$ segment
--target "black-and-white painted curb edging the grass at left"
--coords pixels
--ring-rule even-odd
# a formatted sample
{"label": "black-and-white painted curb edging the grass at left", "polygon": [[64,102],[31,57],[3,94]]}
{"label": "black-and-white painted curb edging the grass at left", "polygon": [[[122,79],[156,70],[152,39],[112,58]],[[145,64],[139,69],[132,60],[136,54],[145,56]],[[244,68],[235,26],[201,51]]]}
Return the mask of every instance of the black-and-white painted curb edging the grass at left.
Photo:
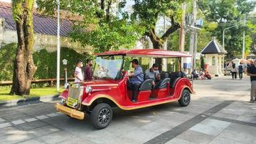
{"label": "black-and-white painted curb edging the grass at left", "polygon": [[55,100],[59,100],[59,94],[52,95],[52,96],[35,96],[27,99],[14,99],[10,101],[2,101],[0,102],[0,109],[8,108],[8,107],[19,107],[29,104],[36,104],[40,102],[52,102]]}

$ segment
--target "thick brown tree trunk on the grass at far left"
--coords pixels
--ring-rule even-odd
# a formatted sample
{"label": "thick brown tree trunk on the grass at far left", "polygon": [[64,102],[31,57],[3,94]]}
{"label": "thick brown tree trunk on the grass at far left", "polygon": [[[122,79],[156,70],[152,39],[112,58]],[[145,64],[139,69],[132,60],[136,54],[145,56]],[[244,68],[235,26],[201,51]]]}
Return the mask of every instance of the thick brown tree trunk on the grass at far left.
{"label": "thick brown tree trunk on the grass at far left", "polygon": [[37,69],[32,58],[34,46],[33,6],[34,0],[12,1],[12,14],[16,23],[18,45],[10,94],[30,94],[32,77]]}

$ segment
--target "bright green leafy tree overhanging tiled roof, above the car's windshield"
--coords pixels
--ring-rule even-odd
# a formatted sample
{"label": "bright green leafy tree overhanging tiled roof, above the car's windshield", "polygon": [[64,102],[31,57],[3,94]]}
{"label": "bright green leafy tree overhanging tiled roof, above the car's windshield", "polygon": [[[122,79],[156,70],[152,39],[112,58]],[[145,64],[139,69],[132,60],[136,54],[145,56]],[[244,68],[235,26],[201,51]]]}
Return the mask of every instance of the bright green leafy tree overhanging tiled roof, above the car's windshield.
{"label": "bright green leafy tree overhanging tiled roof, above the car's windshield", "polygon": [[[56,12],[56,0],[37,0],[37,5],[46,14]],[[72,40],[92,45],[96,53],[133,48],[143,31],[123,10],[125,1],[61,0],[60,6],[61,12],[81,17],[74,21]]]}

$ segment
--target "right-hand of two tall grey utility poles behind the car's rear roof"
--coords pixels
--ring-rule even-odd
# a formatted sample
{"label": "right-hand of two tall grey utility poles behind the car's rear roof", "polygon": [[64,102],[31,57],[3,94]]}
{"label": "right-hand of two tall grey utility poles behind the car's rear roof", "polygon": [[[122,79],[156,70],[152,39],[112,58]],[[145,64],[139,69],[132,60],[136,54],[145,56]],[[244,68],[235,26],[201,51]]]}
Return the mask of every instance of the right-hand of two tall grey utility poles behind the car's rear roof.
{"label": "right-hand of two tall grey utility poles behind the car's rear roof", "polygon": [[[192,18],[192,24],[191,26],[195,27],[195,21],[196,21],[196,0],[193,0],[193,18]],[[192,29],[192,32],[191,32],[191,35],[190,35],[190,55],[192,55],[192,58],[191,58],[191,66],[190,66],[190,73],[193,71],[193,68],[195,68],[195,64],[194,64],[194,60],[195,59],[195,53],[196,53],[196,50],[195,49],[195,46],[197,46],[195,43],[197,41],[195,41],[195,36],[196,36],[196,30],[195,29]],[[195,53],[194,53],[195,52]]]}

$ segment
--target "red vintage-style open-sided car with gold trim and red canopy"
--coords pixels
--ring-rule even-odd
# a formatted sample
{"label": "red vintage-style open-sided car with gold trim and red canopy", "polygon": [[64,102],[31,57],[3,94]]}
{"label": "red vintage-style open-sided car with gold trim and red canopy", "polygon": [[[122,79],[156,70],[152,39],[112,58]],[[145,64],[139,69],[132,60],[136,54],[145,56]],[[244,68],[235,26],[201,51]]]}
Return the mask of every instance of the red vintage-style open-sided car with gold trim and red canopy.
{"label": "red vintage-style open-sided car with gold trim and red canopy", "polygon": [[181,61],[190,55],[153,49],[109,51],[95,55],[94,80],[67,87],[59,96],[61,103],[56,103],[57,111],[79,120],[90,114],[93,126],[102,129],[112,120],[112,107],[131,110],[175,101],[182,107],[190,103],[193,85],[182,72],[162,72],[162,83],[158,89],[152,88],[152,79],[144,79],[137,102],[132,102],[132,91],[127,89],[128,72],[123,69],[127,57],[178,58]]}

